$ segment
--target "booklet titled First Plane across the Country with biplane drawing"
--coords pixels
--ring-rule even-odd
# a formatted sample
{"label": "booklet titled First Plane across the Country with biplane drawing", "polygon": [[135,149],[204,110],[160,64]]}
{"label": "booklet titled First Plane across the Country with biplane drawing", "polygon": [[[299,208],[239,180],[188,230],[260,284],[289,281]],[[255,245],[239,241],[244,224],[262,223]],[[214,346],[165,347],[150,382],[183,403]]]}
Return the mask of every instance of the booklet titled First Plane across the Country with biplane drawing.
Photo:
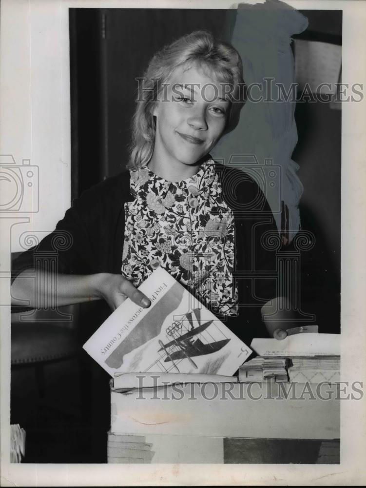
{"label": "booklet titled First Plane across the Country with biplane drawing", "polygon": [[149,308],[126,299],[84,344],[116,372],[232,375],[251,349],[163,268],[139,286]]}

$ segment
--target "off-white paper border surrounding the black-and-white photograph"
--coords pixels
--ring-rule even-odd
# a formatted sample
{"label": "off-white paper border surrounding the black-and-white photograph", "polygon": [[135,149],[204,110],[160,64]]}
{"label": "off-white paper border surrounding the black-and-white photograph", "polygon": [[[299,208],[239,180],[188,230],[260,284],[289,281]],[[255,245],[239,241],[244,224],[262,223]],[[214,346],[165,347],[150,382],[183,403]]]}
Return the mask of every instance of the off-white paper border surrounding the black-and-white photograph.
{"label": "off-white paper border surrounding the black-and-white photograph", "polygon": [[[240,3],[258,3],[255,1]],[[260,1],[262,3],[262,1]],[[342,81],[364,83],[366,90],[366,3],[357,0],[289,0],[299,10],[343,10]],[[70,183],[70,92],[69,92],[69,7],[102,8],[236,8],[226,0],[175,1],[70,1],[70,0],[2,0],[0,29],[0,154],[16,154],[20,161],[37,158],[37,138],[57,138],[59,181]],[[41,45],[36,30],[49,23],[56,26],[48,46]],[[17,26],[15,27],[15,23]],[[14,31],[15,30],[15,31]],[[51,47],[50,47],[51,46]],[[55,127],[43,131],[35,120],[32,78],[41,77],[47,63],[40,63],[44,50],[55,49],[54,78],[42,79],[42,97],[55,98]],[[25,58],[19,57],[24,54]],[[27,76],[19,80],[22,67]],[[17,64],[18,63],[18,64]],[[44,73],[43,73],[44,74]],[[13,84],[12,84],[13,81]],[[53,83],[50,83],[53,81]],[[17,110],[10,106],[12,90],[23,95]],[[61,97],[60,99],[58,97]],[[363,310],[366,300],[365,217],[366,217],[366,102],[343,103],[342,106],[342,251],[341,251],[341,378],[363,381],[365,385],[366,327]],[[20,108],[19,108],[20,107]],[[32,108],[33,107],[33,108]],[[14,107],[13,107],[14,108]],[[18,125],[17,125],[18,124]],[[15,130],[18,127],[18,130]],[[43,146],[43,158],[53,155],[51,143]],[[50,154],[47,151],[51,151]],[[18,161],[18,158],[15,158]],[[58,183],[59,184],[59,183]],[[69,185],[70,186],[70,185]],[[66,210],[70,189],[58,194],[57,205]],[[10,265],[9,224],[11,217],[0,218],[1,269]],[[26,222],[29,216],[24,215]],[[19,220],[20,222],[20,220]],[[29,222],[29,220],[28,220]],[[49,221],[50,230],[56,222]],[[14,223],[15,225],[15,223]],[[37,228],[37,218],[33,221]],[[0,303],[10,300],[10,276],[0,280]],[[0,306],[1,319],[1,486],[156,486],[156,485],[363,485],[366,483],[366,414],[365,398],[341,402],[340,465],[29,465],[9,464],[10,446],[10,306]]]}

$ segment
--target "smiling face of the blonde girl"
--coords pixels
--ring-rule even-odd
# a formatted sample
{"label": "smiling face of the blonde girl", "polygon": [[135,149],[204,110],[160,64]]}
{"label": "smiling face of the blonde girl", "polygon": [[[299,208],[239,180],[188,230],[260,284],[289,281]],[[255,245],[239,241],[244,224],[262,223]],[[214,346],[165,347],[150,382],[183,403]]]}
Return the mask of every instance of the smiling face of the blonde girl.
{"label": "smiling face of the blonde girl", "polygon": [[174,72],[154,106],[154,163],[184,170],[211,151],[228,117],[229,102],[222,98],[223,91],[221,83],[195,66]]}

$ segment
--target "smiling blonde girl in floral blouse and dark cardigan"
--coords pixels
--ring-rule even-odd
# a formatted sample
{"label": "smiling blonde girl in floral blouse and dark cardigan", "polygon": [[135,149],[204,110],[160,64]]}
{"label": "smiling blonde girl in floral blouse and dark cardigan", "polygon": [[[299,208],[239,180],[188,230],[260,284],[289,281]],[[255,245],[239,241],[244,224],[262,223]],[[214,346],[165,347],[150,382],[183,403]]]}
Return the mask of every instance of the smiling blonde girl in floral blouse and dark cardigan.
{"label": "smiling blonde girl in floral blouse and dark cardigan", "polygon": [[103,299],[114,310],[129,297],[148,307],[136,288],[162,266],[240,338],[263,335],[260,309],[276,296],[265,242],[276,227],[256,183],[209,154],[236,126],[242,92],[239,54],[208,32],[156,53],[139,83],[130,171],[84,192],[16,260],[13,303],[36,306],[36,289],[51,298],[45,265],[36,266],[38,287],[23,271],[54,250],[58,306]]}

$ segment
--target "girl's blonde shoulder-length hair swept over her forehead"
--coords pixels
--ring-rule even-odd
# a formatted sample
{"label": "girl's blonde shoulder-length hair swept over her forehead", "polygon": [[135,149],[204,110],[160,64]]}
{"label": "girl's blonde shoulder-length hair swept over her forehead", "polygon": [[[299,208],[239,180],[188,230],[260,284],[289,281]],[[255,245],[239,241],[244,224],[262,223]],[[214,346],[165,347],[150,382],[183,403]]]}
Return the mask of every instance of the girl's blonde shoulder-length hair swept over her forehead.
{"label": "girl's blonde shoulder-length hair swept over her forehead", "polygon": [[[238,121],[244,99],[240,91],[244,86],[241,58],[231,44],[215,39],[211,32],[195,31],[187,34],[158,51],[149,63],[137,90],[136,110],[132,122],[130,160],[127,165],[136,169],[149,163],[155,140],[153,105],[173,72],[183,65],[199,63],[211,75],[230,83],[231,97],[224,133],[233,130]],[[141,79],[140,79],[141,80]]]}

